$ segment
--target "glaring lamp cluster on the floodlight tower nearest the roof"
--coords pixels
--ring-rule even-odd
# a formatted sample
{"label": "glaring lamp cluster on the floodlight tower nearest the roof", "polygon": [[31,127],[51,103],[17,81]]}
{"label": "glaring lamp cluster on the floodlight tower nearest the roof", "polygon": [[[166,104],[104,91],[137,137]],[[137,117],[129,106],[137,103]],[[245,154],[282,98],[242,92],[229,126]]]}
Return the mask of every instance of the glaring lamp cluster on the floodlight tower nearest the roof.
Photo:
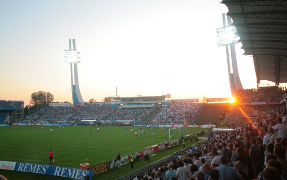
{"label": "glaring lamp cluster on the floodlight tower nearest the roof", "polygon": [[235,26],[227,26],[216,29],[217,45],[223,46],[231,43],[238,43],[239,36],[236,34]]}

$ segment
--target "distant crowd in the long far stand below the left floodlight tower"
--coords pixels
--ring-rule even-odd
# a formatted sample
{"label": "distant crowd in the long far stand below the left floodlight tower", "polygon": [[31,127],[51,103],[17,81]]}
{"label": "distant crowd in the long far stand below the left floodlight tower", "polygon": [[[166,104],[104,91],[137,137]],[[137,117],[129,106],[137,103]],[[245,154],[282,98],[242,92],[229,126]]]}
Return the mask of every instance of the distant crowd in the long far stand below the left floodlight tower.
{"label": "distant crowd in the long far stand below the left floodlight tower", "polygon": [[115,108],[102,106],[43,107],[22,123],[76,123],[79,120],[141,120],[147,122],[158,111],[153,108]]}

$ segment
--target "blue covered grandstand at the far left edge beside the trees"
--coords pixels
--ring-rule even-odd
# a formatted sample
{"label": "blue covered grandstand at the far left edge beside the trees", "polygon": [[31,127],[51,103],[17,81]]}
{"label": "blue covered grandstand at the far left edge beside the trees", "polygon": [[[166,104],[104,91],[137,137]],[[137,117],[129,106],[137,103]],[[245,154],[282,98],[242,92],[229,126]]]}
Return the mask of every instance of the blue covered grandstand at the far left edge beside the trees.
{"label": "blue covered grandstand at the far left edge beside the trees", "polygon": [[13,123],[23,119],[23,101],[0,100],[0,123]]}

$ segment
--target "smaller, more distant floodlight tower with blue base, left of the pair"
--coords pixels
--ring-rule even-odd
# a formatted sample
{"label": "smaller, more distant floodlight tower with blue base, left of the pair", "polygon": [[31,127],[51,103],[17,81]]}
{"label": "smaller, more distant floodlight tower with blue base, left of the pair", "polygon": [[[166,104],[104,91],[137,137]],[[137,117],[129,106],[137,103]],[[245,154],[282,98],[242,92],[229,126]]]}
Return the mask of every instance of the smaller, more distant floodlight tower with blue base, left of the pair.
{"label": "smaller, more distant floodlight tower with blue base, left of the pair", "polygon": [[[73,39],[73,49],[71,47],[71,39],[69,39],[69,49],[64,50],[64,63],[69,63],[71,68],[71,85],[72,85],[72,97],[73,104],[83,103],[83,98],[81,96],[79,79],[78,79],[78,66],[80,52],[76,49],[76,40]],[[74,71],[73,71],[74,66]]]}

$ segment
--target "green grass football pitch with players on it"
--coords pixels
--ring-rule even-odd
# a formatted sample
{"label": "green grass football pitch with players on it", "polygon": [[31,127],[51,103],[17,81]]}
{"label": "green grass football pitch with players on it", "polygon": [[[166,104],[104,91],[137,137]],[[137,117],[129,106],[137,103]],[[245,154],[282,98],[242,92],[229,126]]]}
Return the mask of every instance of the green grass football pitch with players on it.
{"label": "green grass football pitch with players on it", "polygon": [[[44,127],[41,131],[40,126],[0,127],[0,160],[47,165],[48,153],[52,150],[55,166],[79,168],[80,163],[86,162],[86,154],[88,163],[94,166],[115,159],[119,152],[125,156],[168,140],[168,135],[160,128],[153,128],[154,136],[150,129],[144,128],[146,136],[140,133],[137,139],[130,129],[138,132],[138,127],[128,127],[125,133],[124,127],[118,126],[101,126],[99,132],[94,126],[68,126],[62,130],[53,126],[53,134],[50,134],[50,128]],[[184,134],[200,130],[185,128]],[[174,132],[173,138],[177,137]]]}

